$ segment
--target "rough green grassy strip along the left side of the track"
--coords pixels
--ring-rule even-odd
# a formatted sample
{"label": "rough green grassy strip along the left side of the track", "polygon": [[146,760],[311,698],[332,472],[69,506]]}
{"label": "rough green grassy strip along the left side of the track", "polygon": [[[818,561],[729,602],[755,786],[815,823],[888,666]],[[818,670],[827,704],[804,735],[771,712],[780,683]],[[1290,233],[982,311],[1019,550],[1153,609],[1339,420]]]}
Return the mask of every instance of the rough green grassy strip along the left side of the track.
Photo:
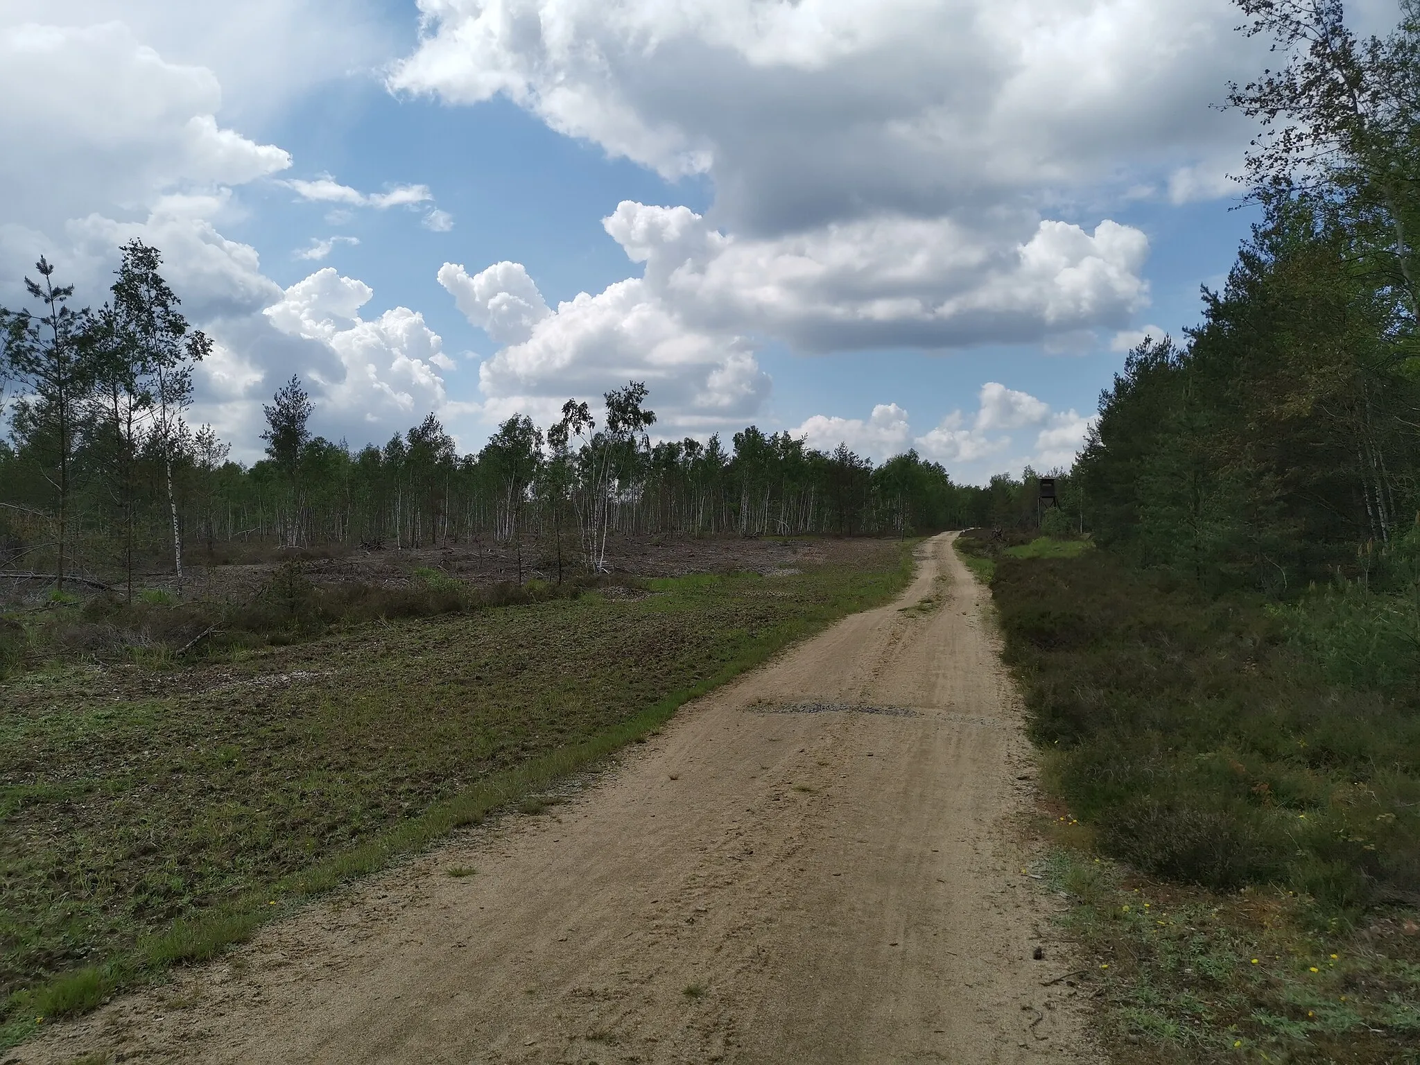
{"label": "rough green grassy strip along the left side of the track", "polygon": [[545,808],[559,778],[912,574],[910,544],[852,558],[0,683],[0,809],[26,841],[0,851],[0,1045],[51,995],[89,1008],[493,811]]}

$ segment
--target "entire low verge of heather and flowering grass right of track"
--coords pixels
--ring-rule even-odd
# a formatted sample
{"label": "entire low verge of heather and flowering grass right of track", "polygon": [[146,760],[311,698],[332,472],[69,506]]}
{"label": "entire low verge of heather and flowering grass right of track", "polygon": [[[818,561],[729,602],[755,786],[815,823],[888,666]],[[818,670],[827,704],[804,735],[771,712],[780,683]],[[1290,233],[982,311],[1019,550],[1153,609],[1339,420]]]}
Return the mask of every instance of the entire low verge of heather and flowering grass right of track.
{"label": "entire low verge of heather and flowering grass right of track", "polygon": [[1414,686],[1336,684],[1278,611],[1105,551],[995,567],[1119,1059],[1420,1061]]}

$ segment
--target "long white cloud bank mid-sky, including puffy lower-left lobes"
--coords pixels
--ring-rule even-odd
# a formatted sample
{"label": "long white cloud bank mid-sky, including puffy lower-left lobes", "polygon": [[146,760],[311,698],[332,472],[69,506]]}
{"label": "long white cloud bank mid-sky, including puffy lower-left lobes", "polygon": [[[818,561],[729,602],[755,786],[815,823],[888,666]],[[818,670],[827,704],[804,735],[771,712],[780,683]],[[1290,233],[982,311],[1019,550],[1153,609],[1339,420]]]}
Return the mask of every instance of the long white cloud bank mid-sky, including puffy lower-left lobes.
{"label": "long white cloud bank mid-sky, including puffy lower-left lobes", "polygon": [[[439,284],[470,324],[503,345],[479,372],[490,409],[551,410],[571,393],[646,381],[667,425],[687,432],[753,417],[770,393],[755,345],[801,351],[896,342],[949,346],[993,332],[1018,339],[1126,318],[1146,298],[1137,230],[1093,234],[1042,223],[983,261],[951,227],[852,223],[825,233],[733,237],[687,207],[622,202],[604,229],[642,277],[548,307],[520,263],[477,274],[444,263]],[[944,295],[944,293],[949,293]]]}

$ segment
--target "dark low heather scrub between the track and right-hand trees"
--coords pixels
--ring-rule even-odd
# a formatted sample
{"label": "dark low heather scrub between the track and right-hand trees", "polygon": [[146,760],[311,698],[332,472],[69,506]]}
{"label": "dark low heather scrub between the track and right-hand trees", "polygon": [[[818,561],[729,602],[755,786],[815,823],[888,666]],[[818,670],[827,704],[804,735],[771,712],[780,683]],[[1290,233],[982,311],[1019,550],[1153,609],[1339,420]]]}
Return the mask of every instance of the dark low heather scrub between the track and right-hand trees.
{"label": "dark low heather scrub between the track and right-hand trees", "polygon": [[1102,551],[997,561],[1038,743],[1106,852],[1355,917],[1420,878],[1420,690],[1333,686],[1275,611]]}

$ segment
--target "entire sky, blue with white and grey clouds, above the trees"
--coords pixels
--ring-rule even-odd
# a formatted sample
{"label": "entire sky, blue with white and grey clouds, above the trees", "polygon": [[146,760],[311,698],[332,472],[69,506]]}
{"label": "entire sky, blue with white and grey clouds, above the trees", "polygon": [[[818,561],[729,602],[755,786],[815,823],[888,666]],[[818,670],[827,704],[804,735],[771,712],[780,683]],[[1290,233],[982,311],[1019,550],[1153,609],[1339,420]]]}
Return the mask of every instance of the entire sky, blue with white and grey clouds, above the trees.
{"label": "entire sky, blue with white and grey clouds, above the trees", "polygon": [[1261,53],[1223,0],[34,16],[0,0],[0,133],[30,146],[0,162],[0,304],[40,251],[98,302],[118,244],[156,244],[217,341],[193,416],[247,460],[294,372],[352,444],[433,410],[471,450],[638,376],[667,435],[1068,463],[1252,220],[1247,126],[1210,105]]}

